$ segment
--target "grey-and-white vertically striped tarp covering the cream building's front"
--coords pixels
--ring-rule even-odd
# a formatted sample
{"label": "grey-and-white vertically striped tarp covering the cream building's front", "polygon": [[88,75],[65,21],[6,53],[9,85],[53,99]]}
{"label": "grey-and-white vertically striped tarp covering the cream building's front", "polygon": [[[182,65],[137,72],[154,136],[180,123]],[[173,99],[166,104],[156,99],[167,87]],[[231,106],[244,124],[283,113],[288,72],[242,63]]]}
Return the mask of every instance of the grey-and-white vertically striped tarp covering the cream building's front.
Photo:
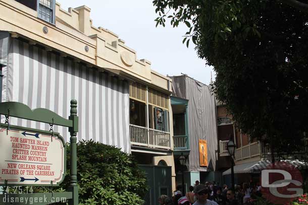
{"label": "grey-and-white vertically striped tarp covering the cream building's front", "polygon": [[[46,108],[67,118],[70,100],[78,104],[78,140],[114,145],[130,153],[129,84],[57,52],[0,33],[3,66],[2,101],[16,101],[31,109]],[[8,50],[8,53],[4,53]],[[2,116],[3,117],[3,116]],[[48,124],[11,119],[11,124],[49,130]],[[67,127],[54,126],[69,141]]]}

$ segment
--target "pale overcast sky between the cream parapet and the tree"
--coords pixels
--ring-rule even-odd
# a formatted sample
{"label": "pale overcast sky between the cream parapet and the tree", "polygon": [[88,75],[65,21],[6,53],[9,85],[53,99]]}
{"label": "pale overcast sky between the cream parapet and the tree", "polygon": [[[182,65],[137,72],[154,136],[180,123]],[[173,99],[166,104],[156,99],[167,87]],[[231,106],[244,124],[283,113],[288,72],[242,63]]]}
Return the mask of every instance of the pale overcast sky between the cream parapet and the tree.
{"label": "pale overcast sky between the cream parapet and the tree", "polygon": [[194,45],[189,48],[182,44],[187,31],[185,25],[173,28],[155,27],[157,17],[151,0],[58,0],[61,8],[68,10],[86,5],[91,9],[90,18],[95,27],[109,29],[116,33],[125,44],[136,50],[137,58],[149,60],[151,69],[163,75],[188,76],[209,85],[211,72],[206,62],[197,57]]}

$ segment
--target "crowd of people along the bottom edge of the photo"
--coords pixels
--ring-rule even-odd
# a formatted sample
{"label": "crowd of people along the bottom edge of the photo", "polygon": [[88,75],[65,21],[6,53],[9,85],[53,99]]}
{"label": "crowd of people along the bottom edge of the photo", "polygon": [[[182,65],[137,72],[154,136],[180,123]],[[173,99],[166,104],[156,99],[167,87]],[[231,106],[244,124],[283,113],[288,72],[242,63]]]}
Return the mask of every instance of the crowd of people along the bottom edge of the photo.
{"label": "crowd of people along the bottom edge of the photo", "polygon": [[161,205],[248,205],[253,202],[254,196],[261,196],[261,186],[257,184],[242,183],[235,185],[235,189],[227,185],[223,187],[217,184],[206,182],[189,187],[189,191],[183,195],[181,186],[177,186],[174,196],[161,195],[159,203]]}

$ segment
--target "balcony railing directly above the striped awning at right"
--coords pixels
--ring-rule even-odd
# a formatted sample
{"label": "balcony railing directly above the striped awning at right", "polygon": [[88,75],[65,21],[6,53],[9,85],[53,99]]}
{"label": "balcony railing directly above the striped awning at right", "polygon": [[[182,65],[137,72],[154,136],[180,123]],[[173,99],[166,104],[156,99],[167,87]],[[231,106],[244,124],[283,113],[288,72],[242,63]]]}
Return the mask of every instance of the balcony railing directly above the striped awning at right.
{"label": "balcony railing directly above the striped awning at right", "polygon": [[236,149],[235,160],[239,161],[249,159],[252,157],[260,156],[260,154],[260,144],[259,142],[254,142]]}

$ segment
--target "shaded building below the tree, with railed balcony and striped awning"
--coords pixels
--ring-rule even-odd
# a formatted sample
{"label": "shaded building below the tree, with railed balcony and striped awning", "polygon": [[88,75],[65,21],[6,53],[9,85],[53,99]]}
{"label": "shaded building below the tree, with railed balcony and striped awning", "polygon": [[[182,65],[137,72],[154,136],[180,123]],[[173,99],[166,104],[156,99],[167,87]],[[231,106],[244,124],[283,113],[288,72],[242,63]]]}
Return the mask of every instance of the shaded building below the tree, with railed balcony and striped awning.
{"label": "shaded building below the tree, with railed balcony and striped awning", "polygon": [[[234,157],[234,178],[235,184],[242,183],[256,184],[260,182],[260,173],[266,169],[271,162],[270,150],[256,139],[251,139],[249,135],[236,128],[232,116],[228,114],[226,106],[217,105],[219,158],[218,171],[223,175],[223,183],[231,186],[231,158],[227,151],[229,140],[236,144]],[[286,161],[299,169],[307,169],[307,164],[301,161],[304,151],[294,153],[291,156],[280,156],[275,154],[275,161]]]}

